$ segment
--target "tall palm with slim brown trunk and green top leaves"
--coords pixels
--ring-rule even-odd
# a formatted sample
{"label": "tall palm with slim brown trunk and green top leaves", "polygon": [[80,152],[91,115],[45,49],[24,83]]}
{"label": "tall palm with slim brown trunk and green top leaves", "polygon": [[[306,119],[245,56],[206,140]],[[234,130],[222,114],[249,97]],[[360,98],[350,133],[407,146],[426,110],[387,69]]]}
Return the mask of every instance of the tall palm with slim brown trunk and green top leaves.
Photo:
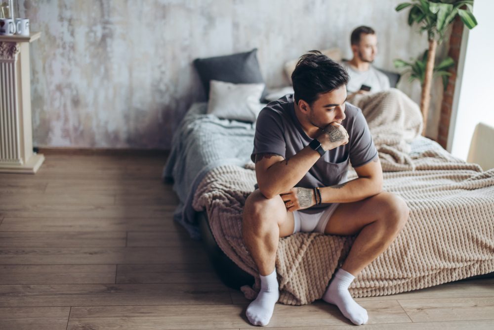
{"label": "tall palm with slim brown trunk and green top leaves", "polygon": [[413,23],[417,23],[420,26],[420,33],[427,31],[429,50],[420,98],[420,109],[424,120],[422,135],[425,134],[427,125],[437,45],[443,42],[446,31],[457,16],[470,30],[477,25],[477,20],[472,13],[472,6],[473,0],[412,0],[412,2],[400,3],[395,8],[396,11],[401,11],[411,7],[408,24],[412,26]]}

